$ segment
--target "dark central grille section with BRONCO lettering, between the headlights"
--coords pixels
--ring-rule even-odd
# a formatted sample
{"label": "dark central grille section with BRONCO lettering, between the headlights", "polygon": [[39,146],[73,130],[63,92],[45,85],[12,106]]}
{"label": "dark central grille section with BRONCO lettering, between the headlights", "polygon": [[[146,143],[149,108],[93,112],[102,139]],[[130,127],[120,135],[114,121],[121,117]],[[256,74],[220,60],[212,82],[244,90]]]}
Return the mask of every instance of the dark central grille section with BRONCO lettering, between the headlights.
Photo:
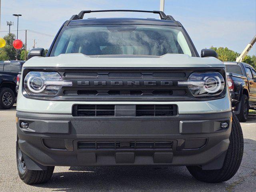
{"label": "dark central grille section with BRONCO lettering, between the headlights", "polygon": [[[63,87],[60,96],[70,100],[98,101],[162,101],[190,98],[187,88],[178,81],[187,80],[192,70],[157,68],[119,68],[70,70],[60,73],[71,80],[72,87]],[[182,99],[181,99],[182,100]]]}

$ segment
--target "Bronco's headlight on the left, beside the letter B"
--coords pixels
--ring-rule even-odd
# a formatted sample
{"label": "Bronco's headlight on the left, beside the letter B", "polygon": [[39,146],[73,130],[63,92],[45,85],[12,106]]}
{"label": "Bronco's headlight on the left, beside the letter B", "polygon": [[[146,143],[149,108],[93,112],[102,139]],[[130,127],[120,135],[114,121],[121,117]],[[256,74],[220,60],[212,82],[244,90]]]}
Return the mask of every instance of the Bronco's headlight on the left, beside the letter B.
{"label": "Bronco's headlight on the left, beside the letter B", "polygon": [[57,72],[29,72],[24,79],[24,88],[32,96],[56,96],[62,86],[72,82],[62,80]]}

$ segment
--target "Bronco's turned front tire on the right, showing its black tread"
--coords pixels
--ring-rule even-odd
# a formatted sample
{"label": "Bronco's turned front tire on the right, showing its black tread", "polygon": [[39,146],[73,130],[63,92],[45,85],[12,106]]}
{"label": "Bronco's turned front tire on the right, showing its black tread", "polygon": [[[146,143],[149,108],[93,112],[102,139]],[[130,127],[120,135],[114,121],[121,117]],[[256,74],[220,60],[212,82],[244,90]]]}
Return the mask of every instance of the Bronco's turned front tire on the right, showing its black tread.
{"label": "Bronco's turned front tire on the right, showing its black tread", "polygon": [[242,161],[244,152],[244,138],[238,118],[233,114],[232,130],[229,137],[230,144],[223,167],[218,170],[202,170],[199,166],[187,166],[188,171],[197,180],[218,183],[232,178]]}

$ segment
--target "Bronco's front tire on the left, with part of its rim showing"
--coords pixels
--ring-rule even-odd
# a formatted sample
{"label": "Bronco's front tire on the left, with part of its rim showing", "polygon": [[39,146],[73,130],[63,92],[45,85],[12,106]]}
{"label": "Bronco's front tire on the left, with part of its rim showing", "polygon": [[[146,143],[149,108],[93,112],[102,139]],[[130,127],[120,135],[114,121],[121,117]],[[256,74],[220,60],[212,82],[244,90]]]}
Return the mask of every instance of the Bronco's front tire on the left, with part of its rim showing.
{"label": "Bronco's front tire on the left, with part of its rim showing", "polygon": [[52,177],[54,166],[48,166],[46,170],[29,170],[26,168],[18,142],[16,142],[16,160],[20,179],[26,184],[45,183]]}

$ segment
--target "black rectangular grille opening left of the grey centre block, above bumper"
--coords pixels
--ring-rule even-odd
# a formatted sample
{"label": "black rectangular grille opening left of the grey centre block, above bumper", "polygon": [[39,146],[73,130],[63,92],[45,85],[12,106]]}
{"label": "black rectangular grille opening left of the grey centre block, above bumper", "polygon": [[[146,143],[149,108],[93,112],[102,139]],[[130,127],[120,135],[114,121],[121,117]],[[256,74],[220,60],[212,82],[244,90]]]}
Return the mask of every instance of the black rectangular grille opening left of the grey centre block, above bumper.
{"label": "black rectangular grille opening left of the grey centre block, above bumper", "polygon": [[73,116],[114,116],[114,105],[74,105]]}

